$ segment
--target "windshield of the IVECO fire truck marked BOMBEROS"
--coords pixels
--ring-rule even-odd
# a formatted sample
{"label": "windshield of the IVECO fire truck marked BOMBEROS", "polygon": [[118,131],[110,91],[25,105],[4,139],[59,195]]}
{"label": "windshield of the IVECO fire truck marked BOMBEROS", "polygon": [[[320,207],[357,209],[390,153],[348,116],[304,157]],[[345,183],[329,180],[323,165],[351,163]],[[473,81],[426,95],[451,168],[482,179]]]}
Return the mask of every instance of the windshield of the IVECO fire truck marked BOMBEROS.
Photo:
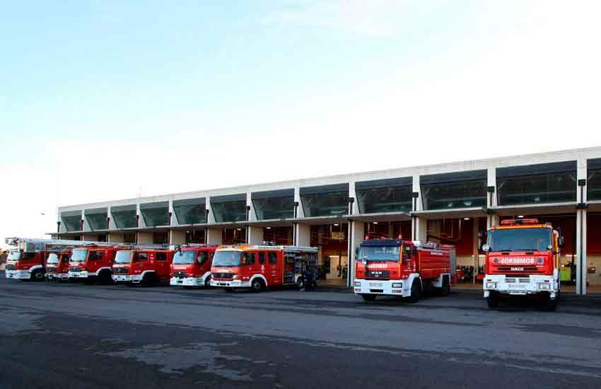
{"label": "windshield of the IVECO fire truck marked BOMBEROS", "polygon": [[552,241],[550,228],[511,228],[489,232],[491,251],[546,251]]}

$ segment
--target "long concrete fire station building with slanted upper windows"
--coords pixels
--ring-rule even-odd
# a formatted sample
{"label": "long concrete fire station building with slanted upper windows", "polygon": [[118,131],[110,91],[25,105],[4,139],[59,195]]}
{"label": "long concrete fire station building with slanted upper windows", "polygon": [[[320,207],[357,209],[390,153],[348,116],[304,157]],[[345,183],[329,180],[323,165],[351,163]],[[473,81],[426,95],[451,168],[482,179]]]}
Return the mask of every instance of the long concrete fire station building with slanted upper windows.
{"label": "long concrete fire station building with slanted upper windows", "polygon": [[[202,178],[200,178],[202,180]],[[484,272],[479,237],[535,217],[565,236],[564,291],[601,291],[601,147],[59,207],[53,236],[125,243],[320,249],[320,277],[351,285],[366,236],[457,248],[457,281]]]}

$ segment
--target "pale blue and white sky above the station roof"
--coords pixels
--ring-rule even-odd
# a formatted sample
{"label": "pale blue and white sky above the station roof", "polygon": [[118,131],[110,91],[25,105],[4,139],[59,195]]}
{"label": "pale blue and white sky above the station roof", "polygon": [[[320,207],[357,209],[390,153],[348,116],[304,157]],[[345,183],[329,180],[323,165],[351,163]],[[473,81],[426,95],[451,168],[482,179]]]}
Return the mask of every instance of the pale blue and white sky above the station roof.
{"label": "pale blue and white sky above the station roof", "polygon": [[57,204],[600,146],[600,14],[0,0],[0,237]]}

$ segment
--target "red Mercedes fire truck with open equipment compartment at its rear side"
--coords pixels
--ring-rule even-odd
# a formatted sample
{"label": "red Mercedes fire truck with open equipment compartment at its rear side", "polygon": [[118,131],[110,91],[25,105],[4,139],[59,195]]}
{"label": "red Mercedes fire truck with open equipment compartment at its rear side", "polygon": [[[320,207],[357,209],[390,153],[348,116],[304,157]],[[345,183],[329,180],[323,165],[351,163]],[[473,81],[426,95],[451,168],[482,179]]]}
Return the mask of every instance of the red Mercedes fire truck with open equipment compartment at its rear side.
{"label": "red Mercedes fire truck with open equipment compartment at its rear side", "polygon": [[[231,245],[216,250],[211,286],[226,291],[272,286],[315,287],[317,248],[277,245]],[[309,280],[309,281],[308,281]],[[310,285],[307,284],[310,282]]]}

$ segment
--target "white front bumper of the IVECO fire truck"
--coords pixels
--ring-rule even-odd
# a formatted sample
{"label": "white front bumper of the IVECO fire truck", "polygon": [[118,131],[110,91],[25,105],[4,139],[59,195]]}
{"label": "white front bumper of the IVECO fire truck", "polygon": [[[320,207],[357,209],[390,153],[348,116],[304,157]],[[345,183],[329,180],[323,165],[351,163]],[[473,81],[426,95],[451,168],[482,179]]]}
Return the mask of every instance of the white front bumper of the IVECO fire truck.
{"label": "white front bumper of the IVECO fire truck", "polygon": [[513,296],[548,293],[551,298],[556,298],[559,293],[559,282],[548,275],[508,277],[503,274],[486,274],[483,288],[485,298],[490,296],[491,291]]}

